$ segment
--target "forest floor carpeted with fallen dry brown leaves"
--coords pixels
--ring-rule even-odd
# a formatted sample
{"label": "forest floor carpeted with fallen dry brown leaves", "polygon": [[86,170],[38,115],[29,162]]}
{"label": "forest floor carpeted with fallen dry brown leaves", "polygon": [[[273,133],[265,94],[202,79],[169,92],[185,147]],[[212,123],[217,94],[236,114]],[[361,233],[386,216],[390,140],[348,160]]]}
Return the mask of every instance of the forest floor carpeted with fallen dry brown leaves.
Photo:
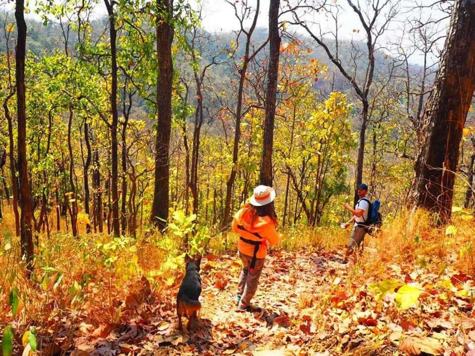
{"label": "forest floor carpeted with fallen dry brown leaves", "polygon": [[474,356],[475,282],[453,267],[458,254],[388,260],[383,242],[347,264],[340,251],[272,253],[253,312],[236,312],[237,256],[209,255],[191,332],[178,330],[177,280],[152,302],[129,299],[128,325],[83,324],[71,355]]}

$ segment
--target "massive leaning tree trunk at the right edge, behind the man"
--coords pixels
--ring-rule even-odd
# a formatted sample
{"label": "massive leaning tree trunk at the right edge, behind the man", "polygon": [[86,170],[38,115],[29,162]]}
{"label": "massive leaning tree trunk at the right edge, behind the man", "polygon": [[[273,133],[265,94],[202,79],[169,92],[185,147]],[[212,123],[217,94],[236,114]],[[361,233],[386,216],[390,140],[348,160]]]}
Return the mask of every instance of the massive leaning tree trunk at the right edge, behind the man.
{"label": "massive leaning tree trunk at the right edge, behind the man", "polygon": [[475,0],[456,0],[423,115],[412,202],[450,220],[460,141],[475,90]]}

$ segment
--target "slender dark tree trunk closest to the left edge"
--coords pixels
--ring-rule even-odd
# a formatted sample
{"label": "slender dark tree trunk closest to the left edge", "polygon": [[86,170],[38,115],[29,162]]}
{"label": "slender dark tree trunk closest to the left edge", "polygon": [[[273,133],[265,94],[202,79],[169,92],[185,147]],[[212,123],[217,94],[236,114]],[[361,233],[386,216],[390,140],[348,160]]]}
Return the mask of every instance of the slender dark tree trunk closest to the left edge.
{"label": "slender dark tree trunk closest to the left edge", "polygon": [[26,160],[26,100],[25,100],[25,48],[26,22],[24,16],[24,0],[16,0],[15,19],[18,31],[16,44],[16,99],[18,120],[18,169],[20,193],[20,242],[21,254],[26,256],[27,269],[33,271],[33,236],[31,230],[31,197],[28,179],[28,162]]}

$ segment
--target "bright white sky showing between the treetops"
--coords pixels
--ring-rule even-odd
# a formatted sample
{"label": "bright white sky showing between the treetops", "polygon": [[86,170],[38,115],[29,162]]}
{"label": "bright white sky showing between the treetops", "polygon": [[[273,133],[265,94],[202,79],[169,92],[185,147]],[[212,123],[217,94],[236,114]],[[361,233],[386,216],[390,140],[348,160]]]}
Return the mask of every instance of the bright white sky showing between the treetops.
{"label": "bright white sky showing between the treetops", "polygon": [[[6,3],[5,3],[6,1]],[[241,6],[242,1],[247,1],[249,6],[255,7],[257,0],[233,0],[236,1],[238,6]],[[260,0],[260,10],[259,17],[257,21],[258,27],[267,27],[268,26],[268,11],[269,11],[269,1],[270,0]],[[297,0],[289,0],[290,3],[295,3]],[[364,39],[364,31],[361,23],[358,20],[355,12],[349,7],[346,0],[330,0],[333,6],[337,6],[338,9],[338,35],[340,38],[345,40],[362,40]],[[361,3],[366,1],[377,1],[377,0],[361,0]],[[409,20],[415,19],[416,17],[421,16],[424,19],[429,17],[439,19],[444,14],[438,11],[435,8],[425,7],[422,10],[414,10],[414,5],[417,2],[419,5],[427,6],[431,4],[434,0],[392,0],[393,3],[397,3],[398,6],[398,15],[391,21],[390,28],[381,36],[380,45],[385,47],[385,51],[389,54],[395,55],[400,50],[399,45],[395,45],[399,38],[405,38],[402,41],[402,47],[408,48],[411,46],[411,41],[409,40],[410,34],[407,31],[409,27]],[[34,0],[30,0],[31,3]],[[381,1],[382,2],[382,1]],[[193,8],[202,6],[202,26],[209,32],[230,32],[237,30],[239,23],[237,18],[234,15],[234,8],[225,0],[190,0],[190,4]],[[281,0],[281,5],[285,4],[285,0]],[[30,4],[30,6],[34,6]],[[7,0],[0,0],[0,8],[13,11],[14,2]],[[334,10],[336,7],[334,7]],[[102,1],[99,1],[97,5],[95,14],[97,16],[105,15],[105,7]],[[39,18],[38,15],[35,15],[31,11],[30,16]],[[311,24],[309,27],[315,33],[318,33],[319,27],[322,28],[323,32],[334,29],[334,21],[328,13],[323,11],[319,13],[313,13],[311,16],[305,18]],[[280,21],[291,20],[290,15],[281,16]],[[445,33],[445,29],[448,25],[448,19],[441,21],[437,24],[437,31],[441,35]],[[359,30],[359,31],[358,31]],[[287,31],[295,32],[297,34],[306,34],[305,30],[297,25],[287,26]],[[307,35],[308,36],[308,35]],[[441,38],[438,41],[438,47],[442,48],[444,39]],[[310,46],[312,44],[309,44]],[[437,58],[432,56],[431,61],[436,61]],[[410,57],[410,62],[416,64],[422,64],[423,57],[422,54],[418,51]]]}

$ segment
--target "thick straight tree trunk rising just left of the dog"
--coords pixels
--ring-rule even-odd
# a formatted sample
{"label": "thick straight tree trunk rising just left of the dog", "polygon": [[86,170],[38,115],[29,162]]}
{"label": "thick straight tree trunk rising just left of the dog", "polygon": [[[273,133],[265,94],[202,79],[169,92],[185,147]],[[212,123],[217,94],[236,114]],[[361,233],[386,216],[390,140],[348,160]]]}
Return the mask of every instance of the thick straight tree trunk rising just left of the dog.
{"label": "thick straight tree trunk rising just left of the dog", "polygon": [[173,1],[156,0],[162,16],[157,16],[157,136],[155,142],[155,183],[150,220],[163,229],[168,220],[169,207],[169,148],[172,122],[172,42]]}

